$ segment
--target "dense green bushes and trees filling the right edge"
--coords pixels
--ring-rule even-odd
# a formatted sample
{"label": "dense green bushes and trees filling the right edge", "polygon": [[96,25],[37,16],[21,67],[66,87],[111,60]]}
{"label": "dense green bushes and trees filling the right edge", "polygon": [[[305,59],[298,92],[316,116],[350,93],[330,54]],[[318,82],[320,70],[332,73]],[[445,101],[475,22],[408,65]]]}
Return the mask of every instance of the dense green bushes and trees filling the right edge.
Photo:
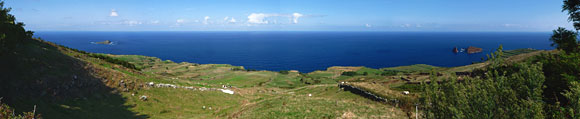
{"label": "dense green bushes and trees filling the right edge", "polygon": [[[564,0],[563,11],[580,29],[579,0]],[[558,28],[550,41],[557,53],[507,63],[500,47],[475,77],[432,77],[421,97],[428,118],[579,118],[578,32]]]}

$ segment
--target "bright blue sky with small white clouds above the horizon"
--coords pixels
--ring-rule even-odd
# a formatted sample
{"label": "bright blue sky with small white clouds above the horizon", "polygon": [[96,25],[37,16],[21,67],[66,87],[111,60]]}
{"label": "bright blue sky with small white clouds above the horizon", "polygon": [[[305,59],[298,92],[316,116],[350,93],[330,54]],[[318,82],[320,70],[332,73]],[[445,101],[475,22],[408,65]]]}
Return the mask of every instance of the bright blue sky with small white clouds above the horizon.
{"label": "bright blue sky with small white clouds above the horizon", "polygon": [[562,0],[6,0],[35,31],[541,31]]}

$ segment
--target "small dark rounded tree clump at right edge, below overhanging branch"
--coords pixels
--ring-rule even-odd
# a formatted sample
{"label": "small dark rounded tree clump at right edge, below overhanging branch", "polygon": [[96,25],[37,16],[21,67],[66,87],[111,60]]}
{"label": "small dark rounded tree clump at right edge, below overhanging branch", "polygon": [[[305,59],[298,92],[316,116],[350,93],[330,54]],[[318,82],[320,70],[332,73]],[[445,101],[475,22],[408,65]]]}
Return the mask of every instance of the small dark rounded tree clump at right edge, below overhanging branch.
{"label": "small dark rounded tree clump at right edge, below overhanging branch", "polygon": [[564,50],[568,53],[578,52],[578,32],[566,30],[566,28],[558,27],[557,30],[552,31],[552,46],[556,46],[557,49]]}

